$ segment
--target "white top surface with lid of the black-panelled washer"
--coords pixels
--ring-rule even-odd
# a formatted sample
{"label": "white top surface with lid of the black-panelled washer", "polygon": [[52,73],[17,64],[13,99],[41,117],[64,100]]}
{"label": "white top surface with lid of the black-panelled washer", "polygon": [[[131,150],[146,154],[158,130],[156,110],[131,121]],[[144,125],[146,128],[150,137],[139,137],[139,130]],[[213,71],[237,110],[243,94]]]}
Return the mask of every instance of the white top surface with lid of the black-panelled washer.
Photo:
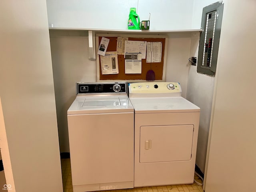
{"label": "white top surface with lid of the black-panelled washer", "polygon": [[134,112],[128,96],[78,96],[68,109],[68,114],[98,114]]}

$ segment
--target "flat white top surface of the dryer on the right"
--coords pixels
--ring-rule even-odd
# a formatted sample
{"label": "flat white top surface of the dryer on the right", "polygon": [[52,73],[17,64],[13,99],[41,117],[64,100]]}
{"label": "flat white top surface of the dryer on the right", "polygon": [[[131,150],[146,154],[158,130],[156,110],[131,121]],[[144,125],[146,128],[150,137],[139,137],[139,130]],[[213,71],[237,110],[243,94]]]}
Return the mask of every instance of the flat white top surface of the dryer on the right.
{"label": "flat white top surface of the dryer on the right", "polygon": [[130,98],[135,113],[200,112],[200,108],[183,97]]}

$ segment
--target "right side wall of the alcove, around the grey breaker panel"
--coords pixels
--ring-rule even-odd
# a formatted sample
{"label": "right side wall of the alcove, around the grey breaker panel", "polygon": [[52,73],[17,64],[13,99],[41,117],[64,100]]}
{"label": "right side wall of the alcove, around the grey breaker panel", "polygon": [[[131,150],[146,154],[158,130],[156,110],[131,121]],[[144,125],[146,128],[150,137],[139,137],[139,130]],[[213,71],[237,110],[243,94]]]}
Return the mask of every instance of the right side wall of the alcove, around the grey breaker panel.
{"label": "right side wall of the alcove, around the grey breaker panel", "polygon": [[[194,0],[192,28],[200,28],[202,10],[205,6],[217,0]],[[198,39],[191,40],[190,57],[198,56]],[[214,90],[214,77],[197,73],[197,66],[190,66],[188,72],[187,99],[200,107],[200,123],[196,151],[196,165],[204,172],[210,116],[212,110],[212,97]]]}

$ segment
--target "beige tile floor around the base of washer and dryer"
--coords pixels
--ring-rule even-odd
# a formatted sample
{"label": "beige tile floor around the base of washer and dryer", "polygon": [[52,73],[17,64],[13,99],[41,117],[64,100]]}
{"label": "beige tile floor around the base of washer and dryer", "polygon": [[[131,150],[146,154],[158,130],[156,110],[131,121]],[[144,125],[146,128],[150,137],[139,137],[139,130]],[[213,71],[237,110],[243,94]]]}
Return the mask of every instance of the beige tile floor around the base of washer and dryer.
{"label": "beige tile floor around the base of washer and dryer", "polygon": [[[73,192],[70,159],[61,160],[63,191]],[[196,180],[199,178],[195,176]],[[202,182],[198,180],[198,182]],[[196,183],[182,185],[167,185],[167,186],[152,186],[152,187],[137,187],[133,189],[108,190],[101,192],[203,192],[202,186]]]}

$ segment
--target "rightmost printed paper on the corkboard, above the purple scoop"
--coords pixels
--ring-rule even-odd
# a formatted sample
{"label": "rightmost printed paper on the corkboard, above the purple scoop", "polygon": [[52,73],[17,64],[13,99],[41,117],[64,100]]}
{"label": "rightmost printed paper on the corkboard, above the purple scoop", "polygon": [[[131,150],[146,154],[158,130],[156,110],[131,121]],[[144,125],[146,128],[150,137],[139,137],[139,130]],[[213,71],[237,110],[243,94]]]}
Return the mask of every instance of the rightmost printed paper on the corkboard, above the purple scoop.
{"label": "rightmost printed paper on the corkboard, above the purple scoop", "polygon": [[162,60],[162,42],[147,42],[147,63],[160,63]]}

